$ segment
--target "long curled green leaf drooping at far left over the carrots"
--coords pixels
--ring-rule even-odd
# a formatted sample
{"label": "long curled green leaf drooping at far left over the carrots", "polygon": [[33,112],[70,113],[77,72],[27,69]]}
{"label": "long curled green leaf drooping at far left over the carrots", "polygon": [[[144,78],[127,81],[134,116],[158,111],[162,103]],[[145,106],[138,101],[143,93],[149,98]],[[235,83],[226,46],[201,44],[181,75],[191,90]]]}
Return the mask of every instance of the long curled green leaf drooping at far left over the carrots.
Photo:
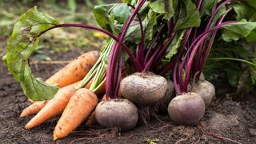
{"label": "long curled green leaf drooping at far left over the carrots", "polygon": [[30,55],[38,46],[38,34],[57,24],[50,15],[39,13],[34,7],[22,14],[7,42],[6,66],[26,96],[36,101],[53,98],[58,90],[58,86],[34,78],[29,65]]}

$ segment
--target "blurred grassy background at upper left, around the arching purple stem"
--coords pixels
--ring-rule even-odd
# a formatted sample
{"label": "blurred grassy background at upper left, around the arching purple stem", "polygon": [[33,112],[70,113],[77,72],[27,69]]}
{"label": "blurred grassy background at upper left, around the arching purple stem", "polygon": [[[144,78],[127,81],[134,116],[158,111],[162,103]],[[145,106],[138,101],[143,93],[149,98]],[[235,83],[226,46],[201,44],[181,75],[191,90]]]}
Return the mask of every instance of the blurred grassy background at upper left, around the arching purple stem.
{"label": "blurred grassy background at upper left, around the arching purple stem", "polygon": [[[38,6],[38,10],[53,15],[62,23],[97,25],[91,12],[92,7],[105,2],[102,0],[0,0],[0,56],[6,53],[6,40],[10,37],[14,23],[32,6]],[[118,2],[118,0],[108,2]],[[100,49],[102,38],[98,38],[94,33],[93,30],[75,28],[51,30],[42,36],[42,42],[34,58],[50,60],[49,53],[55,54],[69,50],[82,53],[88,49]]]}

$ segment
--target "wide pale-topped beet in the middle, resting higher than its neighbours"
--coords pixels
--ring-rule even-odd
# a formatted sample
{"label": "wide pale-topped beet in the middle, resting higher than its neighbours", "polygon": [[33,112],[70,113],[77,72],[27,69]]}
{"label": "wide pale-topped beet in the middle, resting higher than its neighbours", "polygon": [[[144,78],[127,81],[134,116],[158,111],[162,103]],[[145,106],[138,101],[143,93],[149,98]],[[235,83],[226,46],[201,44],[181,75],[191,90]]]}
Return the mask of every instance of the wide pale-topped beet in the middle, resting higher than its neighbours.
{"label": "wide pale-topped beet in the middle, resting higher than its neighbours", "polygon": [[124,98],[140,106],[153,106],[165,96],[166,78],[153,73],[134,73],[124,78],[120,90]]}

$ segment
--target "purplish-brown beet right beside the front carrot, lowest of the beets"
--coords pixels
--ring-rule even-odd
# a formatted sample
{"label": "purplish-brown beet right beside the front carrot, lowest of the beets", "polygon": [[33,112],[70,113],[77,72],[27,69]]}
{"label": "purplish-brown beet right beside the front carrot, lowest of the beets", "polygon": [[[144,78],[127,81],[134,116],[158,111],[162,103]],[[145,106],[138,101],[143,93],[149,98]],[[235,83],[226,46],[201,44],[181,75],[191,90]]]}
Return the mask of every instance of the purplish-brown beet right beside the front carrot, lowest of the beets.
{"label": "purplish-brown beet right beside the front carrot, lowest of the beets", "polygon": [[98,103],[95,117],[101,126],[133,129],[138,122],[138,109],[127,99],[109,99]]}

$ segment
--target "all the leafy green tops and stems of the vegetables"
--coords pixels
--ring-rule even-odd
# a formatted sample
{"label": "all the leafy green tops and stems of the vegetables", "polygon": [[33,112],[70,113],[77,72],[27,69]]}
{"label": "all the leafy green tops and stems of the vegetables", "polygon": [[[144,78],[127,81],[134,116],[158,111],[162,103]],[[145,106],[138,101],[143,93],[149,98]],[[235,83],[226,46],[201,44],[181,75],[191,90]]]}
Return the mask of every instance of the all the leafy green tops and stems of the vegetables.
{"label": "all the leafy green tops and stems of the vegetables", "polygon": [[[106,80],[109,98],[118,98],[122,71],[130,66],[142,73],[151,71],[168,78],[172,75],[175,90],[187,92],[189,83],[202,73],[215,42],[256,40],[254,0],[126,0],[95,6],[93,12],[100,27],[60,24],[50,15],[39,13],[36,7],[22,14],[8,40],[3,60],[27,97],[50,99],[58,90],[58,86],[34,78],[29,65],[39,37],[55,28],[92,29],[110,37],[101,58],[78,86],[86,85],[96,76],[92,89],[97,90]],[[246,62],[253,64],[250,75],[256,83],[255,61]]]}

